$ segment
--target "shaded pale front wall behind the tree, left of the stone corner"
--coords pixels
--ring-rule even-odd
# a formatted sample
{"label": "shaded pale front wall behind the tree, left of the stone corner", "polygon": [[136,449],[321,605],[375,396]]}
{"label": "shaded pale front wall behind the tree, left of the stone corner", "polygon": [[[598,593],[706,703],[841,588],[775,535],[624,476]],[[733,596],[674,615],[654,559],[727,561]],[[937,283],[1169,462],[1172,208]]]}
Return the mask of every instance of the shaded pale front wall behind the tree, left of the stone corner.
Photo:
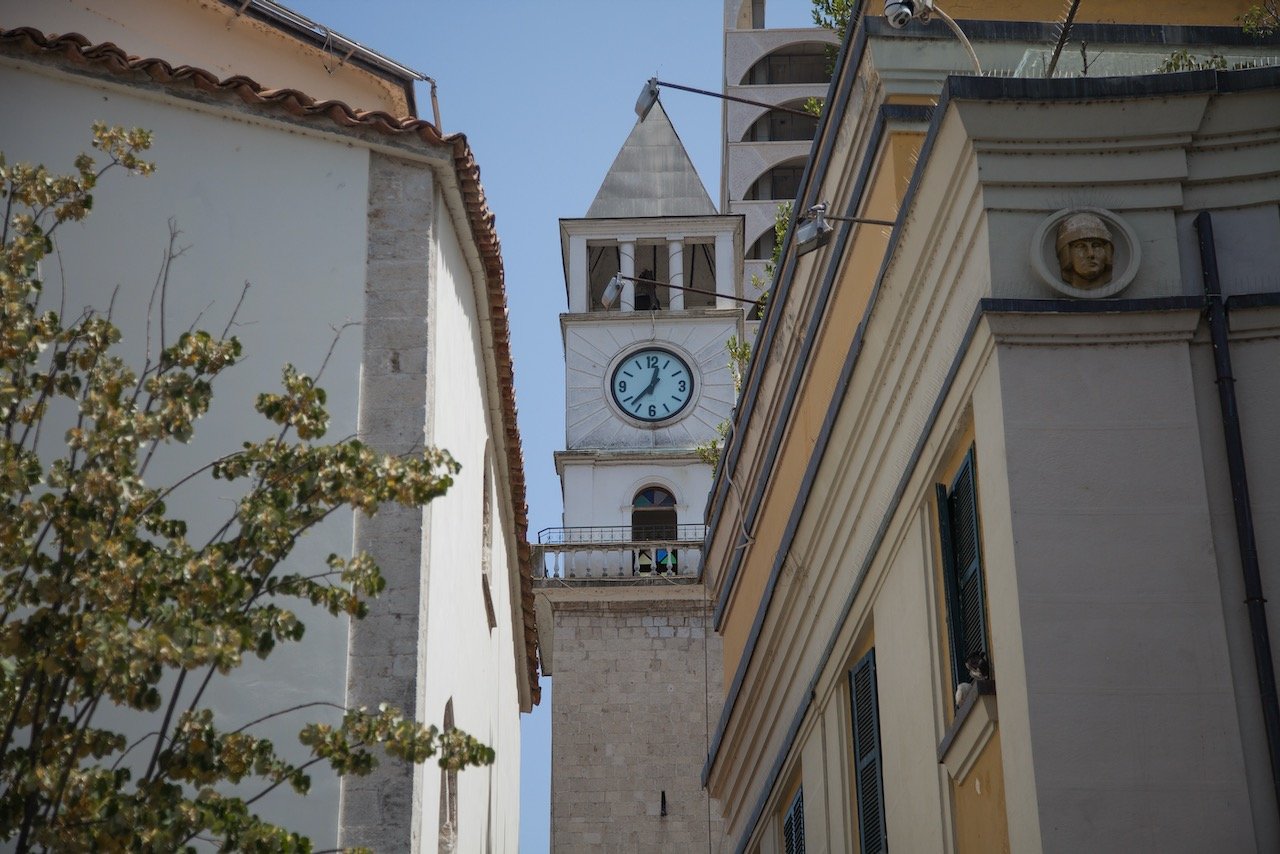
{"label": "shaded pale front wall behind the tree, left of the stone corner", "polygon": [[[88,220],[58,236],[59,260],[50,259],[44,273],[51,297],[65,288],[68,315],[84,306],[105,310],[118,287],[114,319],[122,329],[122,347],[141,364],[147,302],[170,220],[182,232],[178,246],[186,247],[173,265],[166,294],[170,335],[201,312],[202,326],[221,332],[250,283],[232,330],[243,343],[243,364],[218,379],[214,406],[197,424],[192,443],[163,448],[148,479],[177,480],[238,449],[242,440],[273,434],[271,425],[252,410],[255,396],[279,388],[285,362],[314,375],[325,359],[330,329],[361,316],[367,151],[284,133],[242,117],[175,106],[146,92],[0,63],[0,109],[5,115],[29,117],[5,123],[0,131],[0,150],[10,161],[68,170],[72,159],[88,150],[90,123],[97,118],[155,133],[147,156],[156,163],[156,173],[105,178],[95,191]],[[33,110],[32,105],[38,106]],[[324,237],[317,239],[317,234]],[[300,312],[300,305],[311,310]],[[321,380],[329,392],[330,437],[355,433],[358,371],[360,333],[348,329]],[[170,503],[196,536],[209,525],[202,520],[227,519],[238,494],[238,488],[220,481],[191,484]],[[335,513],[298,544],[292,565],[323,566],[329,553],[349,553],[351,524],[349,512]],[[305,613],[305,608],[298,611]],[[284,647],[266,662],[250,659],[234,682],[211,688],[210,703],[220,721],[234,729],[298,703],[342,702],[346,621],[315,613],[303,622],[303,645]],[[307,680],[289,679],[297,672],[306,672]],[[264,732],[278,746],[296,745],[303,721],[333,717],[293,716]],[[335,778],[315,775],[306,799],[275,802],[276,809],[289,804],[292,826],[320,844],[333,844]],[[268,804],[264,812],[271,814],[271,809]]]}

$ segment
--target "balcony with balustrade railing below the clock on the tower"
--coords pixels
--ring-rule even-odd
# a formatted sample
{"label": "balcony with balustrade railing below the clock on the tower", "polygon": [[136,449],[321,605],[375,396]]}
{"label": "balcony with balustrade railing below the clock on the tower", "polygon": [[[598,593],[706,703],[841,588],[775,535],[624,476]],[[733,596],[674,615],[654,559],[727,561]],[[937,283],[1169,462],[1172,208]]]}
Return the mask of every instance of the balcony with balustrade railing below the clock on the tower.
{"label": "balcony with balustrade railing below the clock on the tower", "polygon": [[572,583],[695,579],[705,525],[544,528],[534,544],[534,577]]}

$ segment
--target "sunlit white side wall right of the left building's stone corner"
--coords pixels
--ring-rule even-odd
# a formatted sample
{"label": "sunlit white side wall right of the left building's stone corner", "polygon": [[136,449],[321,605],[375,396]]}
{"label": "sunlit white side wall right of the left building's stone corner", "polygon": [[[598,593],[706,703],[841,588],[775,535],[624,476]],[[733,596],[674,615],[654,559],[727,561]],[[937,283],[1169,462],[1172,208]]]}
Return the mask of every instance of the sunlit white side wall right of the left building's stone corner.
{"label": "sunlit white side wall right of the left building's stone corner", "polygon": [[[434,227],[439,252],[435,259],[434,320],[429,333],[430,356],[438,370],[429,380],[429,443],[448,448],[462,465],[449,492],[431,503],[426,522],[426,561],[430,567],[422,600],[424,625],[419,685],[422,717],[438,721],[453,700],[457,726],[492,746],[497,761],[490,768],[468,768],[458,775],[458,851],[515,850],[520,835],[520,697],[509,666],[512,622],[503,618],[513,607],[504,581],[515,571],[513,531],[500,507],[492,511],[489,589],[497,626],[489,627],[481,585],[486,545],[481,530],[481,504],[497,489],[484,488],[493,476],[489,401],[485,364],[476,316],[474,274],[461,241],[438,197]],[[518,588],[516,589],[518,594]],[[516,603],[518,607],[518,603]],[[440,803],[440,769],[434,762],[419,767],[421,802],[416,812],[424,827],[422,849],[434,850]]]}

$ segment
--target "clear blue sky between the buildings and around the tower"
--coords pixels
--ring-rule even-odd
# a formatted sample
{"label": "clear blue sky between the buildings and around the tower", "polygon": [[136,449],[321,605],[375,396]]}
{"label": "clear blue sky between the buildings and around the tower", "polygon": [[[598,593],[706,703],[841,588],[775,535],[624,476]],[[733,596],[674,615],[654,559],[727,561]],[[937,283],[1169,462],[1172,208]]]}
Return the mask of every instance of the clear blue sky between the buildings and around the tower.
{"label": "clear blue sky between the buildings and around the tower", "polygon": [[[722,0],[283,0],[430,77],[445,132],[463,132],[497,214],[507,270],[530,533],[561,524],[552,453],[564,443],[561,216],[586,214],[635,124],[653,76],[721,90]],[[808,0],[774,0],[767,23],[810,26]],[[712,198],[719,198],[719,102],[662,96]],[[419,110],[430,97],[419,87]],[[552,681],[524,720],[521,851],[548,850]]]}

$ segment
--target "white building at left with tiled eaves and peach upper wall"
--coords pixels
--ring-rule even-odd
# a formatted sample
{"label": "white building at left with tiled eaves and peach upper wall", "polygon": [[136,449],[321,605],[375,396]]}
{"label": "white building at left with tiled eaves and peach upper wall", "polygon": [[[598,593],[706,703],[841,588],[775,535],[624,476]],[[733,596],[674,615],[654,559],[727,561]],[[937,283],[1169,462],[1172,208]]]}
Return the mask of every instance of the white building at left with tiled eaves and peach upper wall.
{"label": "white building at left with tiled eaves and peach upper wall", "polygon": [[[462,463],[424,511],[334,515],[301,542],[292,567],[367,551],[385,593],[349,626],[301,608],[303,644],[246,663],[206,699],[228,729],[302,703],[388,702],[456,723],[497,763],[449,775],[384,761],[340,791],[317,769],[308,798],[278,790],[264,813],[317,848],[513,850],[520,713],[538,702],[538,668],[503,264],[466,138],[416,118],[422,79],[265,0],[0,0],[8,161],[69,169],[93,120],[155,134],[155,175],[113,174],[84,225],[60,232],[49,291],[102,309],[118,286],[123,347],[141,362],[170,223],[187,247],[170,324],[220,330],[250,284],[234,328],[244,364],[219,378],[192,444],[161,449],[156,480],[261,437],[255,396],[285,362],[319,370],[344,326],[321,378],[329,435],[438,446]],[[195,534],[225,519],[228,490],[189,484],[173,507]],[[297,732],[324,713],[305,714],[269,737],[305,755]]]}

